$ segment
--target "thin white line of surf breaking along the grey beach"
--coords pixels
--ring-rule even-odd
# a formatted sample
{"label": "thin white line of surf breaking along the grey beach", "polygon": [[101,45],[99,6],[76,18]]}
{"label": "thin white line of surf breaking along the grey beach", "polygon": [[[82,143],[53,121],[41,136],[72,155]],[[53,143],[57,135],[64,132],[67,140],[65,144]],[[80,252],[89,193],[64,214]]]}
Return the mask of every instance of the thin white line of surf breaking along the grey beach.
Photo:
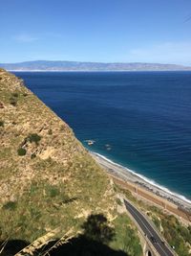
{"label": "thin white line of surf breaking along the grey beach", "polygon": [[170,195],[173,196],[173,197],[180,198],[181,200],[183,200],[183,201],[185,201],[185,202],[191,204],[191,200],[189,200],[188,198],[185,198],[184,196],[182,196],[182,195],[180,195],[180,194],[178,194],[178,193],[172,192],[171,190],[169,190],[168,188],[166,188],[166,187],[164,187],[164,186],[159,185],[159,183],[157,183],[155,180],[152,180],[152,179],[150,179],[150,178],[147,178],[147,177],[144,176],[144,175],[139,175],[136,171],[133,171],[133,170],[131,170],[131,169],[127,168],[127,167],[124,167],[124,166],[122,166],[122,165],[120,165],[120,164],[117,164],[117,163],[114,162],[113,160],[107,158],[106,156],[104,156],[104,155],[102,155],[102,154],[100,154],[100,153],[97,153],[97,152],[95,152],[95,151],[90,151],[90,152],[93,153],[93,154],[95,154],[96,156],[98,156],[98,157],[104,159],[105,161],[107,161],[107,162],[109,162],[109,163],[111,163],[111,164],[113,164],[113,165],[115,165],[115,166],[121,168],[122,170],[125,170],[126,172],[129,172],[129,173],[131,173],[132,175],[138,176],[139,178],[141,178],[142,180],[144,180],[144,181],[146,181],[147,183],[151,184],[152,186],[157,187],[159,190],[161,190],[161,191],[163,191],[163,192],[165,192],[165,193],[167,193],[167,194],[170,194]]}

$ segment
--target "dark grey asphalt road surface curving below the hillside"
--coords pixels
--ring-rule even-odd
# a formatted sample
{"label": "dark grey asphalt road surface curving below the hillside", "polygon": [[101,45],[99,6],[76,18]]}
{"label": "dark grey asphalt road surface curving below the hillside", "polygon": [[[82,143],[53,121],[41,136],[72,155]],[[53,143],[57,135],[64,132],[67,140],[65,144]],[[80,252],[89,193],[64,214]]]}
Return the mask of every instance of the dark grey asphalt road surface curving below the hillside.
{"label": "dark grey asphalt road surface curving below the hillside", "polygon": [[127,200],[124,200],[126,209],[133,216],[133,218],[138,222],[139,227],[144,232],[145,236],[150,240],[156,250],[159,252],[160,256],[174,256],[170,249],[162,242],[158,233],[151,226],[149,221],[143,217],[142,214]]}

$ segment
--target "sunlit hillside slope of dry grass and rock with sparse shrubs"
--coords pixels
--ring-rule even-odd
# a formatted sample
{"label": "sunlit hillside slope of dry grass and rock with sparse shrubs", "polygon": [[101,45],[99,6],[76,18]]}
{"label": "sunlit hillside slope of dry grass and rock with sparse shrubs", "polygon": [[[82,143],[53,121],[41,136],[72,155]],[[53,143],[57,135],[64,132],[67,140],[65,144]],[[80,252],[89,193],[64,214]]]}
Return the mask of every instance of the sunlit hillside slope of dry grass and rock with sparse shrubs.
{"label": "sunlit hillside slope of dry grass and rock with sparse shrubs", "polygon": [[[114,214],[108,176],[69,126],[0,69],[0,240],[77,230],[90,213]],[[61,232],[61,231],[60,231]]]}

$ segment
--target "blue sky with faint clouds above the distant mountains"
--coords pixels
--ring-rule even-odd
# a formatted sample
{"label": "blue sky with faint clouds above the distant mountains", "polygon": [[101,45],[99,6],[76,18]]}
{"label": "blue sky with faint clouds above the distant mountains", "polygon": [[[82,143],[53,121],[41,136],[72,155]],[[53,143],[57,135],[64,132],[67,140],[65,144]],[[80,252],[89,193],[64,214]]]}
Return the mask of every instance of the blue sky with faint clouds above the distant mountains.
{"label": "blue sky with faint clouds above the distant mountains", "polygon": [[191,65],[191,0],[0,0],[0,62]]}

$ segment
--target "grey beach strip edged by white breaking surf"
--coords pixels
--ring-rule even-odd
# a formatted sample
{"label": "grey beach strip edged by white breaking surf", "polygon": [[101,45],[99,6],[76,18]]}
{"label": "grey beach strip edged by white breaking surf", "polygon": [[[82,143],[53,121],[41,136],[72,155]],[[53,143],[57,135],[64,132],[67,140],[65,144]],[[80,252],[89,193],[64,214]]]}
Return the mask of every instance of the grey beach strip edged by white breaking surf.
{"label": "grey beach strip edged by white breaking surf", "polygon": [[187,212],[191,213],[191,200],[184,198],[179,194],[173,193],[165,187],[152,183],[152,180],[149,180],[147,177],[139,175],[132,170],[117,164],[104,155],[101,155],[95,151],[90,151],[90,154],[110,175],[116,176],[123,181],[127,181],[130,184],[135,185],[137,189],[148,191],[149,193],[153,194],[153,196],[157,196],[169,203],[173,203],[181,210],[186,210]]}

